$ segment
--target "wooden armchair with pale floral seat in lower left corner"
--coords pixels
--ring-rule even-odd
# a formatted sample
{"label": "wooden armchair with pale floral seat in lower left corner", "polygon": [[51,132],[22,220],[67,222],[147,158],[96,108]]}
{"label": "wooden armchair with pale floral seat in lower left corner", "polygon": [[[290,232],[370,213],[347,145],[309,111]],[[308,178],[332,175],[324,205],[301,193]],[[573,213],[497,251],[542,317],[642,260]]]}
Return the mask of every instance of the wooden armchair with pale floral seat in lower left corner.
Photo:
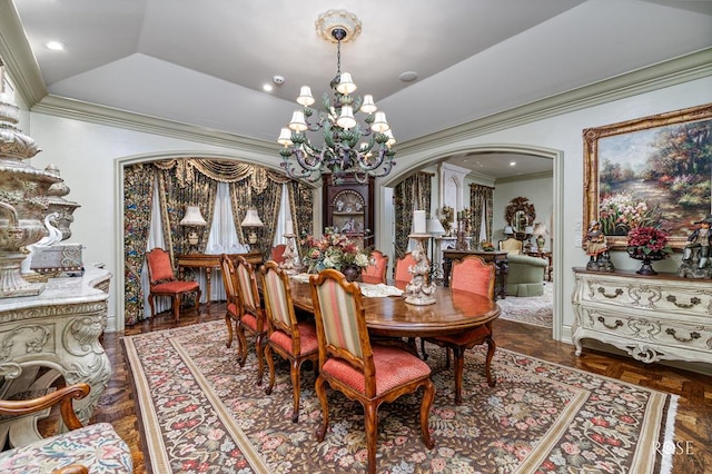
{"label": "wooden armchair with pale floral seat in lower left corner", "polygon": [[72,399],[89,394],[87,384],[60,387],[29,401],[0,401],[0,415],[27,415],[57,404],[70,431],[0,453],[0,472],[86,474],[132,473],[131,452],[108,423],[82,426]]}

